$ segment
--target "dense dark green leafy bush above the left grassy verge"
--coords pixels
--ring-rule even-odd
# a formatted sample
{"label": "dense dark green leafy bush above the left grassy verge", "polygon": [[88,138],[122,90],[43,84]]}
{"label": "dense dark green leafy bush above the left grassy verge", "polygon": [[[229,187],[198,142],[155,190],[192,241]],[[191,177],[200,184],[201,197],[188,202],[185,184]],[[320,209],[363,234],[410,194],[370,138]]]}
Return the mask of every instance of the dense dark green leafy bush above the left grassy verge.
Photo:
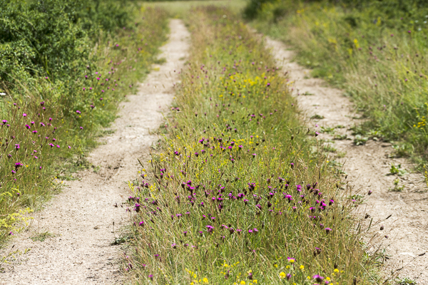
{"label": "dense dark green leafy bush above the left grassy verge", "polygon": [[[76,76],[90,63],[88,36],[127,26],[129,12],[116,1],[1,0],[0,80]],[[78,71],[81,73],[81,71]]]}

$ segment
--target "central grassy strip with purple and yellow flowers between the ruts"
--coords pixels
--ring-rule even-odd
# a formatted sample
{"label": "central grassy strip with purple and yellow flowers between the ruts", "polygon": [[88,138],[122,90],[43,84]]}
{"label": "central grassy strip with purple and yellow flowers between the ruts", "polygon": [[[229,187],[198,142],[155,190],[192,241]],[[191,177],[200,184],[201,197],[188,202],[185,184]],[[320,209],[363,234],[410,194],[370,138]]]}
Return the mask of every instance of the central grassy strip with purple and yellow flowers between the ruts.
{"label": "central grassy strip with purple and yellow flowers between the ruts", "polygon": [[163,152],[130,185],[135,284],[368,284],[360,227],[287,81],[240,17],[188,16]]}

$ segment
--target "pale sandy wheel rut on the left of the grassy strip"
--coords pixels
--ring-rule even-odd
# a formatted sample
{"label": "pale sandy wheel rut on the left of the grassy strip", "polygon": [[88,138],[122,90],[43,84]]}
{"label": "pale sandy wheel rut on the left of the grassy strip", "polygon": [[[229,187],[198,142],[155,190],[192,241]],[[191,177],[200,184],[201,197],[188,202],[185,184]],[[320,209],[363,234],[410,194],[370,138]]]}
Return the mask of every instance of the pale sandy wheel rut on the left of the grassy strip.
{"label": "pale sandy wheel rut on the left of the grassy strip", "polygon": [[[156,130],[173,99],[173,83],[187,56],[190,34],[180,20],[170,21],[170,39],[161,49],[166,63],[148,75],[137,95],[128,96],[112,128],[116,133],[103,138],[89,155],[98,172],[78,173],[63,192],[37,212],[29,231],[13,239],[6,252],[20,250],[17,260],[0,274],[0,284],[120,284],[118,246],[110,246],[117,230],[128,222],[128,180],[138,172],[137,158],[147,157],[158,137]],[[177,72],[174,72],[176,70]],[[117,203],[118,207],[113,207]],[[113,222],[115,226],[113,229]],[[35,231],[54,237],[33,242]],[[113,233],[116,231],[116,233]],[[14,246],[13,249],[11,247]]]}

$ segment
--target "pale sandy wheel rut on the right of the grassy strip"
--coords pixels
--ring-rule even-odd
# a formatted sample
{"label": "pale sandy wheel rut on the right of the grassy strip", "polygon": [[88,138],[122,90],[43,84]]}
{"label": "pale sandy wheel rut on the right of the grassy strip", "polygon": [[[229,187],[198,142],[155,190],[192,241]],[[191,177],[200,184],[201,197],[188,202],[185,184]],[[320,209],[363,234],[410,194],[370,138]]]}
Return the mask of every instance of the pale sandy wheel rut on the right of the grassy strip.
{"label": "pale sandy wheel rut on the right of the grassy strip", "polygon": [[[265,44],[271,48],[277,66],[289,72],[290,81],[294,82],[293,94],[305,112],[310,128],[320,131],[321,126],[335,128],[343,125],[345,128],[336,129],[336,133],[352,138],[349,128],[359,122],[352,119],[357,114],[349,98],[341,90],[325,87],[326,83],[320,79],[308,78],[310,70],[292,62],[294,53],[284,43],[265,37]],[[310,120],[314,115],[324,118]],[[320,134],[319,138],[331,140],[332,136]],[[379,237],[383,237],[382,246],[387,247],[386,254],[389,257],[384,266],[385,276],[390,276],[391,271],[404,266],[396,274],[416,280],[417,284],[428,284],[428,253],[424,254],[428,252],[428,195],[424,177],[418,173],[402,177],[388,175],[391,164],[401,163],[404,169],[412,170],[412,165],[406,159],[388,158],[392,153],[389,143],[369,140],[366,145],[356,146],[352,140],[332,142],[337,151],[346,152],[340,162],[345,163],[349,184],[355,185],[354,190],[360,190],[364,195],[370,190],[373,192],[367,202],[360,206],[360,214],[370,214],[373,221],[382,221],[392,214],[376,226],[377,229],[380,229],[380,225],[384,226],[383,231],[379,230]],[[389,191],[397,178],[404,190]],[[369,252],[379,245],[380,242],[372,244]],[[419,257],[419,254],[424,255]]]}

